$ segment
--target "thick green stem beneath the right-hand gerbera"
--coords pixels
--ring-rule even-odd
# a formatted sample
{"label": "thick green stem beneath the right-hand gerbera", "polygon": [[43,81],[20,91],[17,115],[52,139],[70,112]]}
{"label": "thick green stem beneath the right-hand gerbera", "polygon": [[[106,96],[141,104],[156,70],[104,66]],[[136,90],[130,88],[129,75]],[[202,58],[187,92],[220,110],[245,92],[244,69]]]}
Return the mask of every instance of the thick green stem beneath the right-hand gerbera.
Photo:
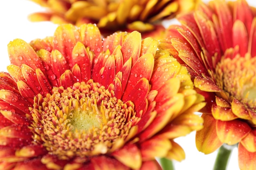
{"label": "thick green stem beneath the right-hand gerbera", "polygon": [[234,146],[229,146],[223,144],[218,151],[213,170],[226,170],[227,163],[229,161],[229,156],[233,150]]}

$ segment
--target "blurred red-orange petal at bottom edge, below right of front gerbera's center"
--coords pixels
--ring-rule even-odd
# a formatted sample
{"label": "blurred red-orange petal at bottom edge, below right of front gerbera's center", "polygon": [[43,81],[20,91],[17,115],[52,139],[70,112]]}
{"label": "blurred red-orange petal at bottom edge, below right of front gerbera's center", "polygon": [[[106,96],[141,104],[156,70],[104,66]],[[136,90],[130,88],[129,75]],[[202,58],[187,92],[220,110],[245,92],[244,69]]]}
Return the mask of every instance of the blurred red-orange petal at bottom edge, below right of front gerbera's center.
{"label": "blurred red-orange petal at bottom edge, below right of front gerbera's center", "polygon": [[139,169],[141,167],[141,153],[134,144],[126,145],[123,148],[116,150],[111,155],[132,169]]}

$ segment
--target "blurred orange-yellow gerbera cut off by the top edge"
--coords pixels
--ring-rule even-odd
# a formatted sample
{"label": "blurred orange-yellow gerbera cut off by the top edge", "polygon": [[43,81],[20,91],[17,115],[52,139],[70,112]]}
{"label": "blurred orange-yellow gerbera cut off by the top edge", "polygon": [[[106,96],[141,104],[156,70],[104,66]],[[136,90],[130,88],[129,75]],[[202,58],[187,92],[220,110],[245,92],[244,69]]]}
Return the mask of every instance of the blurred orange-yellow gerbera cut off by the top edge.
{"label": "blurred orange-yellow gerbera cut off by the top edge", "polygon": [[[156,23],[194,9],[198,0],[31,0],[49,11],[31,14],[31,21],[57,24],[95,23],[109,31],[163,31]],[[159,35],[158,35],[159,36]]]}

